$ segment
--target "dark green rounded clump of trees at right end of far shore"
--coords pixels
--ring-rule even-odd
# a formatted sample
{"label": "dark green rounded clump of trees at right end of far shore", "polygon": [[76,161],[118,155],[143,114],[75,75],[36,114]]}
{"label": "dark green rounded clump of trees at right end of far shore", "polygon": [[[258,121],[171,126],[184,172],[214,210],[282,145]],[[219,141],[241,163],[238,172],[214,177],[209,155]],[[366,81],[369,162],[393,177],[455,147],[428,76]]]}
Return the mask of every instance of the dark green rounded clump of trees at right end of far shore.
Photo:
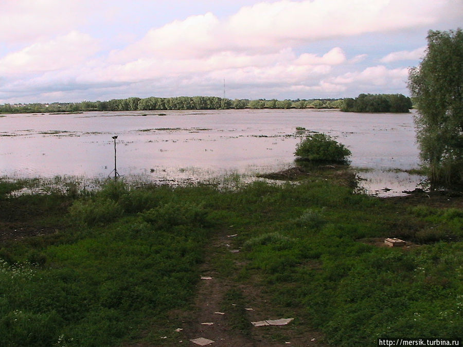
{"label": "dark green rounded clump of trees at right end of far shore", "polygon": [[412,107],[412,100],[402,94],[360,94],[344,99],[341,111],[406,113]]}

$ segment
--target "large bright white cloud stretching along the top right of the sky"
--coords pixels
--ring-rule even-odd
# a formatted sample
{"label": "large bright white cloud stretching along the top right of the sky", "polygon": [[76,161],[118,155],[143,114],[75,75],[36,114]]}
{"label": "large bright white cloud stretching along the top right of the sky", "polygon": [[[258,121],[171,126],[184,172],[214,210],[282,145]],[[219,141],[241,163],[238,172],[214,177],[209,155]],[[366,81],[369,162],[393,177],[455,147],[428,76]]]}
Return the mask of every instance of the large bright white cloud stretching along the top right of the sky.
{"label": "large bright white cloud stretching along the top right of the sky", "polygon": [[263,2],[223,20],[207,12],[152,28],[143,39],[113,51],[111,58],[121,63],[135,58],[205,57],[227,50],[275,52],[316,40],[430,25],[448,1]]}

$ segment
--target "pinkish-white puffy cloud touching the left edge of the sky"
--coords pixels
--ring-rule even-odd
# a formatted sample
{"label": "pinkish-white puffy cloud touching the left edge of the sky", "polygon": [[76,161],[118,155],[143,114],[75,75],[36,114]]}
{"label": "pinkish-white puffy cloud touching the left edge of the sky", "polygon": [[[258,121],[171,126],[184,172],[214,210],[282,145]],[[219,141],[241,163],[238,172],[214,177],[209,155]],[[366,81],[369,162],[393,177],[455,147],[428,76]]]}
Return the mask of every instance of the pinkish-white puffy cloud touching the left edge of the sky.
{"label": "pinkish-white puffy cloud touching the left edge of the sky", "polygon": [[56,39],[37,42],[0,59],[0,73],[23,75],[74,67],[92,56],[98,43],[90,35],[78,31]]}

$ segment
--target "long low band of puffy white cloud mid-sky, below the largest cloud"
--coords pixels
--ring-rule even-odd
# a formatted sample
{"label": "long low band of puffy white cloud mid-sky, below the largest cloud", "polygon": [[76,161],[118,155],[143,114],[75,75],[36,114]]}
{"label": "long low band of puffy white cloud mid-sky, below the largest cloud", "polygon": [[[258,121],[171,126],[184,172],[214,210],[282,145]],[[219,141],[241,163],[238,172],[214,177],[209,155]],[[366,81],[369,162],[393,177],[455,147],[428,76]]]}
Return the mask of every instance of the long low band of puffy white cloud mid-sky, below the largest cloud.
{"label": "long low band of puffy white cloud mid-sky, below the largest cloud", "polygon": [[127,63],[111,64],[89,69],[78,77],[79,81],[136,82],[170,78],[189,80],[202,76],[204,80],[222,80],[235,84],[299,83],[329,74],[332,65],[345,60],[340,48],[333,48],[322,57],[316,54],[297,56],[292,49],[276,53],[246,54],[232,51],[218,52],[209,57],[189,59],[142,58]]}

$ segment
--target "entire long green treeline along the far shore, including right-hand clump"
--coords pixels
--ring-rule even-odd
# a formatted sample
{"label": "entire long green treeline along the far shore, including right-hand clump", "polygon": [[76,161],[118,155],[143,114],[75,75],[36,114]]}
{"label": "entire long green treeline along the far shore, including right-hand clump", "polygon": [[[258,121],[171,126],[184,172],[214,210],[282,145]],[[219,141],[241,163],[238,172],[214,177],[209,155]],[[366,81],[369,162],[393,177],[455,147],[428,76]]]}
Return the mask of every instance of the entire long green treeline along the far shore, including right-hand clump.
{"label": "entire long green treeline along the far shore, including right-hand clump", "polygon": [[[361,94],[356,99],[309,99],[309,100],[249,100],[235,99],[230,100],[219,97],[175,97],[175,98],[127,98],[113,99],[109,101],[82,101],[82,102],[54,102],[54,103],[32,103],[32,104],[4,104],[0,105],[0,113],[60,113],[60,112],[86,112],[86,111],[167,111],[173,109],[243,109],[243,108],[339,108],[348,112],[408,112],[411,108],[411,101],[403,95],[378,95],[372,96],[379,99],[378,109],[368,106],[363,109],[355,106],[359,99],[366,96],[369,100],[370,95]],[[362,97],[362,98],[361,98]],[[403,103],[402,100],[408,100]],[[398,107],[399,101],[408,106]],[[367,102],[368,105],[371,103]],[[387,110],[383,107],[387,105]],[[357,111],[362,109],[363,111]],[[400,111],[395,111],[395,110]]]}

